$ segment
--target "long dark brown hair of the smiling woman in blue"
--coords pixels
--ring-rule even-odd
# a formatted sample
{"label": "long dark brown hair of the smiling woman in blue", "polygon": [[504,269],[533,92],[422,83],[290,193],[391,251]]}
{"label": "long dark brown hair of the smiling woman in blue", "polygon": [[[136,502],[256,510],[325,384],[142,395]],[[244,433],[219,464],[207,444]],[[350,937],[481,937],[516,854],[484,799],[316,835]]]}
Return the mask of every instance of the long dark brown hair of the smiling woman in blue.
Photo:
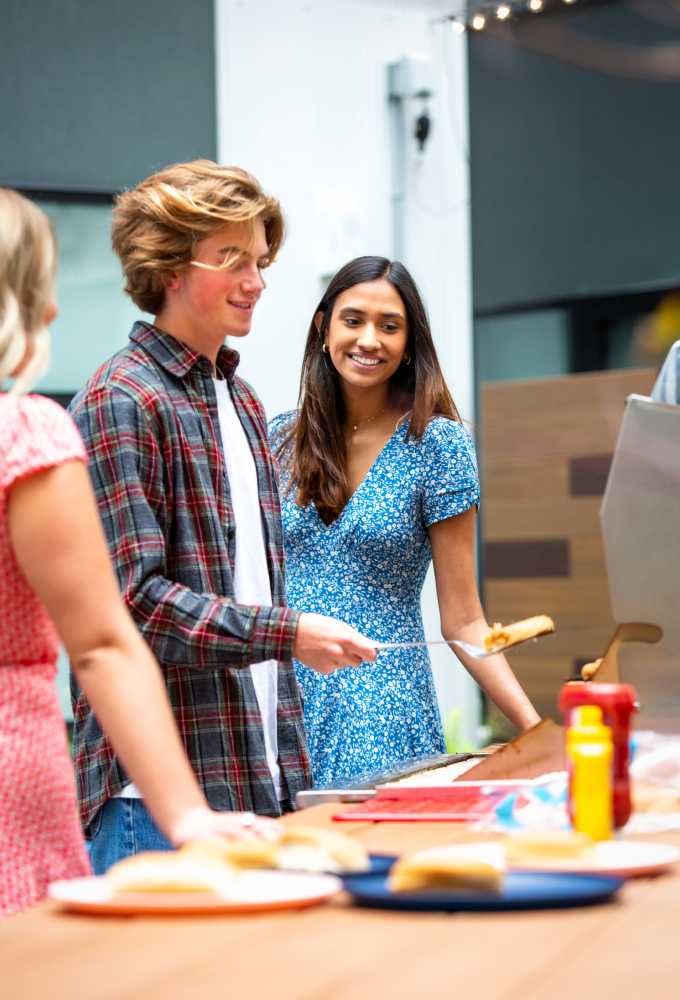
{"label": "long dark brown hair of the smiling woman in blue", "polygon": [[[408,320],[406,352],[390,379],[393,398],[409,410],[407,435],[420,438],[435,415],[460,420],[444,381],[430,324],[416,284],[399,261],[385,257],[357,257],[340,268],[314,310],[302,360],[298,413],[276,452],[290,472],[289,489],[297,489],[301,507],[314,502],[322,521],[330,524],[349,498],[347,453],[343,434],[345,403],[340,377],[322,350],[336,299],[342,292],[366,281],[384,278],[397,290]],[[317,328],[317,314],[322,314]]]}

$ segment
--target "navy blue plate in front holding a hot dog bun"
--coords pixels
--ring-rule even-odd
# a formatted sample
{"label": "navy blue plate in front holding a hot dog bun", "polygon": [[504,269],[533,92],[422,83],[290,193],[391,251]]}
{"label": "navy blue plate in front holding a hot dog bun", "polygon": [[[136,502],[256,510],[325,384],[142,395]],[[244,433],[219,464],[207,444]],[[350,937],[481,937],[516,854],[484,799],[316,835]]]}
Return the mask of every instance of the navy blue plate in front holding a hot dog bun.
{"label": "navy blue plate in front holding a hot dog bun", "polygon": [[601,875],[510,872],[500,893],[485,892],[390,892],[387,875],[366,872],[343,878],[347,892],[359,906],[387,910],[543,910],[587,906],[610,899],[623,879]]}

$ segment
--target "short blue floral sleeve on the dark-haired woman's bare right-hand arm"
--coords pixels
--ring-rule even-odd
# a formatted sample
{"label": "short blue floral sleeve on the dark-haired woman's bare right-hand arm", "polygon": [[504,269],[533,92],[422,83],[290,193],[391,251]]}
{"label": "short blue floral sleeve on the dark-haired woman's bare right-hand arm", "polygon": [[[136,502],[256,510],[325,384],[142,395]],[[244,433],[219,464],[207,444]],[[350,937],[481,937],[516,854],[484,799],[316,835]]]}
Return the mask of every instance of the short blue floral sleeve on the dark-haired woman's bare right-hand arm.
{"label": "short blue floral sleeve on the dark-haired woman's bare right-hand arm", "polygon": [[479,476],[470,435],[456,420],[435,417],[420,441],[423,449],[422,514],[427,528],[479,506]]}

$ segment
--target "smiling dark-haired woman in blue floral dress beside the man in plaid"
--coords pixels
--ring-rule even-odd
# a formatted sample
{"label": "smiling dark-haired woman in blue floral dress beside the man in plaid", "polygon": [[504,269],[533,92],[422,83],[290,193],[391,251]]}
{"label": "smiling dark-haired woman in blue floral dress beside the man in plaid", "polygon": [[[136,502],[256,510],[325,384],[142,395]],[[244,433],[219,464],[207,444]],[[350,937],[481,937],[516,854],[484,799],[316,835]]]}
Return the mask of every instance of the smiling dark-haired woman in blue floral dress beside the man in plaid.
{"label": "smiling dark-haired woman in blue floral dress beside the man in plaid", "polygon": [[[376,642],[422,641],[432,559],[442,635],[481,641],[474,449],[403,265],[360,257],[335,275],[310,326],[299,408],[271,435],[291,607]],[[538,721],[503,656],[461,658],[511,721]],[[444,750],[426,648],[326,676],[296,670],[317,786]]]}

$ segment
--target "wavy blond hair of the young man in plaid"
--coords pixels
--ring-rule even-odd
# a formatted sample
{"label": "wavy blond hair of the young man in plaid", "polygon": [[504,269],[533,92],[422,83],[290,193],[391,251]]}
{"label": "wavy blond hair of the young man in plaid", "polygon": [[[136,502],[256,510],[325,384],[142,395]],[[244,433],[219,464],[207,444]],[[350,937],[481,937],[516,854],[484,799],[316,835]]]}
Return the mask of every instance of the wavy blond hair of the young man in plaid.
{"label": "wavy blond hair of the young man in plaid", "polygon": [[125,291],[140,309],[156,315],[166,282],[189,267],[199,240],[227,223],[252,225],[256,219],[264,223],[271,261],[283,241],[281,208],[245,170],[193,160],[147,177],[119,195],[113,211],[111,239]]}

